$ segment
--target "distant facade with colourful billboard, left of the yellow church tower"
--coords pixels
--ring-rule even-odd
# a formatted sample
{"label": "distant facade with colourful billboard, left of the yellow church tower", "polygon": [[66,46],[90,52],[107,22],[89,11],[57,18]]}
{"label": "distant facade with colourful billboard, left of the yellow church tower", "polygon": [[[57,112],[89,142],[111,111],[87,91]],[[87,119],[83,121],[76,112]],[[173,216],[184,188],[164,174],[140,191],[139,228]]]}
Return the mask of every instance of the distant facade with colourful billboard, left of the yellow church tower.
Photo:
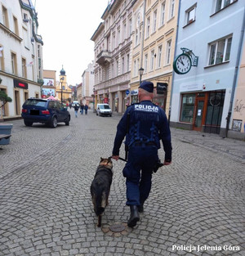
{"label": "distant facade with colourful billboard, left of the yellow church tower", "polygon": [[42,98],[56,97],[56,70],[43,70]]}

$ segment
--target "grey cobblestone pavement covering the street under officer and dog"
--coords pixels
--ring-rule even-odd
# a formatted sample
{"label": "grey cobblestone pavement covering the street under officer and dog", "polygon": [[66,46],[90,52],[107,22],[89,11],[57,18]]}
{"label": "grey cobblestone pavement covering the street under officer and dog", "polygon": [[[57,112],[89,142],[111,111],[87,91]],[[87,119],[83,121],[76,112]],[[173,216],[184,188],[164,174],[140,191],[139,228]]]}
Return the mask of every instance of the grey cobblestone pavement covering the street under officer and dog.
{"label": "grey cobblestone pavement covering the street under officer and dog", "polygon": [[172,128],[172,164],[154,173],[133,229],[124,163],[114,161],[100,228],[90,185],[120,117],[71,115],[69,127],[56,129],[9,122],[11,143],[0,146],[0,256],[245,255],[243,141]]}

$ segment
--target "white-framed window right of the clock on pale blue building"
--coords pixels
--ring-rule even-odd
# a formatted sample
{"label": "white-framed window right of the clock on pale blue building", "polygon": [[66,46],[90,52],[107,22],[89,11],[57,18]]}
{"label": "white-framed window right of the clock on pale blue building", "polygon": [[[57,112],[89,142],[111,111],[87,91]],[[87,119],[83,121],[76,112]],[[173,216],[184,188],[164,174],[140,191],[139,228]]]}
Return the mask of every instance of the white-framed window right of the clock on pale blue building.
{"label": "white-framed window right of the clock on pale blue building", "polygon": [[210,43],[208,65],[216,65],[229,61],[231,43],[232,37],[223,38],[214,43]]}

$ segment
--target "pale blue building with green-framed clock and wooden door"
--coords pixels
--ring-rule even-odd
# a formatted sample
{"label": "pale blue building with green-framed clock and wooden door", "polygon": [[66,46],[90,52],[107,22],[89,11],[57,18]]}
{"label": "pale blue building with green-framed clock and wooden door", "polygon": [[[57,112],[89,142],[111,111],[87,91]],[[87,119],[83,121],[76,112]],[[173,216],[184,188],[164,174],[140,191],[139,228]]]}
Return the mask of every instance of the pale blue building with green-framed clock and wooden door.
{"label": "pale blue building with green-framed clock and wooden door", "polygon": [[173,78],[171,126],[221,135],[232,127],[243,17],[244,0],[180,1],[176,56],[185,55]]}

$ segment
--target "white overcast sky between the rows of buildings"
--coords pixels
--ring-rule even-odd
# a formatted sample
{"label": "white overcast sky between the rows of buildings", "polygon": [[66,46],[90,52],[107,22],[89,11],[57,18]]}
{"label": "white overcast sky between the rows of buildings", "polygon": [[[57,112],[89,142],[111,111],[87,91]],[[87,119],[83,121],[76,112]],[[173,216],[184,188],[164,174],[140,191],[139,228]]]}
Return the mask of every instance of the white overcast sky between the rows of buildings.
{"label": "white overcast sky between the rows of buildings", "polygon": [[42,36],[43,69],[64,65],[67,83],[82,82],[82,73],[94,60],[91,36],[102,21],[108,0],[32,0],[38,12],[38,34]]}

